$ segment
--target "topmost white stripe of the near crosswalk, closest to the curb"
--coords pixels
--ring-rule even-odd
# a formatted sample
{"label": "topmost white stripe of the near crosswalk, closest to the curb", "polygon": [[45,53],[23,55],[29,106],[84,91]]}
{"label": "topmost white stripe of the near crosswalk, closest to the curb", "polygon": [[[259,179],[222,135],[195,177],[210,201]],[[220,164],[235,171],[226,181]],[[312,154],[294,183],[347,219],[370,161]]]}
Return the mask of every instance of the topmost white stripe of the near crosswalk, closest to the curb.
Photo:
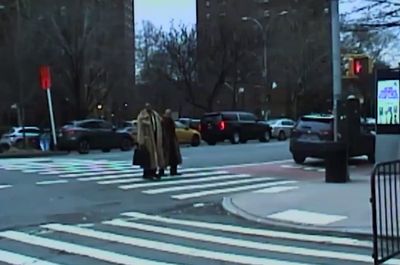
{"label": "topmost white stripe of the near crosswalk, closest to the curb", "polygon": [[126,216],[126,217],[131,217],[131,218],[134,218],[137,220],[143,219],[143,220],[148,220],[148,221],[155,221],[155,222],[161,223],[160,226],[162,226],[164,224],[174,224],[174,225],[180,225],[180,226],[204,228],[204,229],[209,229],[209,230],[214,230],[214,231],[222,231],[222,232],[229,232],[229,233],[235,233],[235,234],[260,236],[260,237],[265,237],[265,238],[306,241],[306,242],[314,242],[314,243],[321,243],[321,244],[335,244],[335,245],[344,245],[344,246],[351,246],[351,247],[363,247],[363,248],[368,248],[368,249],[370,249],[372,247],[372,243],[370,241],[362,241],[362,240],[352,239],[352,238],[323,236],[323,235],[308,235],[308,234],[299,234],[299,233],[292,233],[292,232],[274,231],[274,230],[268,230],[268,229],[248,228],[248,227],[220,224],[220,223],[212,223],[212,222],[174,219],[174,218],[161,217],[161,216],[157,216],[157,215],[148,215],[148,214],[139,213],[139,212],[126,212],[126,213],[122,213],[121,215]]}

